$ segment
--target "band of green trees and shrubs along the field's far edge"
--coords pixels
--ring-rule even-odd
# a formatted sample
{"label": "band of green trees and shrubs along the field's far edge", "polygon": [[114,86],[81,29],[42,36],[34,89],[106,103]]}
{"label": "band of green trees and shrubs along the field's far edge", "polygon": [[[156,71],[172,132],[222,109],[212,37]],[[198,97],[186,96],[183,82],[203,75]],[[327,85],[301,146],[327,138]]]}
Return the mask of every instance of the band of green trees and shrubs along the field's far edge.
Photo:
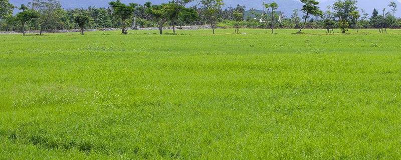
{"label": "band of green trees and shrubs along the field's far edge", "polygon": [[[245,6],[223,8],[223,0],[171,0],[167,3],[124,4],[120,0],[111,1],[108,7],[88,7],[64,9],[59,0],[32,0],[20,6],[9,0],[0,0],[0,31],[22,31],[81,28],[122,28],[202,25],[212,27],[252,27],[252,28],[399,28],[401,19],[395,16],[397,4],[391,1],[388,8],[372,10],[358,9],[357,0],[337,0],[323,12],[317,0],[301,0],[300,10],[294,9],[291,16],[277,13],[278,3],[266,3],[266,11],[244,17]],[[194,4],[188,6],[188,4]],[[20,12],[13,15],[13,10]],[[251,12],[256,9],[250,9]],[[248,11],[249,12],[249,11]],[[300,16],[302,15],[302,16]]]}

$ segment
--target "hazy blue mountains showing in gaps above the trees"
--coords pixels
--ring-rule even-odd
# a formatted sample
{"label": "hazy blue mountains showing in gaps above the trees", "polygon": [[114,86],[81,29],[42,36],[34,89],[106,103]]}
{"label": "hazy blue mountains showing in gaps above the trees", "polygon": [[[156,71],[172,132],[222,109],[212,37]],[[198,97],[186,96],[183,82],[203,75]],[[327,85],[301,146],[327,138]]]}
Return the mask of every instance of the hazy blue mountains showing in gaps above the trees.
{"label": "hazy blue mountains showing in gaps above the trees", "polygon": [[[28,4],[30,0],[10,0],[13,4],[19,6],[20,4]],[[64,8],[86,8],[88,6],[96,6],[96,7],[106,7],[108,6],[108,2],[111,0],[60,0]],[[129,3],[135,2],[143,4],[146,1],[151,1],[152,3],[162,3],[168,2],[169,0],[121,0],[122,2]],[[278,10],[284,12],[285,15],[290,16],[292,10],[295,8],[300,9],[302,7],[302,3],[299,0],[225,0],[226,7],[235,7],[237,4],[245,5],[247,9],[256,8],[262,9],[263,2],[269,3],[275,1],[279,4]],[[320,0],[320,8],[322,10],[326,9],[327,5],[333,5],[336,0]],[[401,7],[401,0],[397,1],[399,7]],[[358,7],[365,9],[366,12],[371,13],[373,8],[381,10],[386,7],[387,11],[390,9],[387,7],[390,0],[358,0]],[[194,3],[195,4],[195,3]],[[401,8],[398,9],[397,16],[401,16]]]}

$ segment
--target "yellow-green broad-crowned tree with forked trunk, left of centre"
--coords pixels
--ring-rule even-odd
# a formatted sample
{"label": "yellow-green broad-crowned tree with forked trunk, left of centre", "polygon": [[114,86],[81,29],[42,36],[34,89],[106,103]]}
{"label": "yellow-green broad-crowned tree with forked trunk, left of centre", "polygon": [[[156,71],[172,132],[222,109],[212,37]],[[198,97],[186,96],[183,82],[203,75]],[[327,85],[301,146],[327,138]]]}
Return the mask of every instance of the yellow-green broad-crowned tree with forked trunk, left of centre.
{"label": "yellow-green broad-crowned tree with forked trunk, left of centre", "polygon": [[149,13],[157,23],[160,34],[163,34],[163,25],[171,17],[175,9],[174,5],[173,3],[161,3],[159,5],[150,5],[146,8],[146,12]]}

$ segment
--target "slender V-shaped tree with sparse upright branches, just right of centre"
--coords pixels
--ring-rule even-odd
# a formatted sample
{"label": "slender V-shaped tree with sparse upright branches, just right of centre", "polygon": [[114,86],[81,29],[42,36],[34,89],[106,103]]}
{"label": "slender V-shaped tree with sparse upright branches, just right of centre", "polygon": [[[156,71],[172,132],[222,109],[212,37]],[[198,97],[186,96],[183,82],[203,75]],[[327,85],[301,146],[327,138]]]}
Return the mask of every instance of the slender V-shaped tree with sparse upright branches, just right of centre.
{"label": "slender V-shaped tree with sparse upright branches, just right of centre", "polygon": [[224,2],[223,0],[200,0],[200,3],[202,3],[206,11],[205,16],[212,27],[213,34],[215,34],[216,23],[219,19],[219,11],[224,5]]}

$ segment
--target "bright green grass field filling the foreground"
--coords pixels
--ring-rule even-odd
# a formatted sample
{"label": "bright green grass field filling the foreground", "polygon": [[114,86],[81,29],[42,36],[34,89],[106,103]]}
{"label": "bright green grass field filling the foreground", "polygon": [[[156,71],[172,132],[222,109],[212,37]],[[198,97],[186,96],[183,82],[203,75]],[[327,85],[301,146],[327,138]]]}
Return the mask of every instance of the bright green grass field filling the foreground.
{"label": "bright green grass field filling the foreground", "polygon": [[0,159],[401,158],[401,30],[240,31],[0,35]]}

